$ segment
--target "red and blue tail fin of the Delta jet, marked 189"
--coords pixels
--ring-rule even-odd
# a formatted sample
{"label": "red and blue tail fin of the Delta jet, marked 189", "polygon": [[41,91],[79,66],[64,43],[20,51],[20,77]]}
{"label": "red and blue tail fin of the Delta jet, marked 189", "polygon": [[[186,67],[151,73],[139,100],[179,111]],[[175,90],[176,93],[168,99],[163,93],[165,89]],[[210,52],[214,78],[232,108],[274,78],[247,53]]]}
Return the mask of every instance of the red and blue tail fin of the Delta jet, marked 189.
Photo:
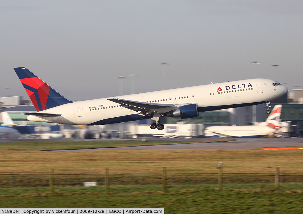
{"label": "red and blue tail fin of the Delta jet, marked 189", "polygon": [[37,111],[72,103],[26,67],[16,67],[14,70]]}

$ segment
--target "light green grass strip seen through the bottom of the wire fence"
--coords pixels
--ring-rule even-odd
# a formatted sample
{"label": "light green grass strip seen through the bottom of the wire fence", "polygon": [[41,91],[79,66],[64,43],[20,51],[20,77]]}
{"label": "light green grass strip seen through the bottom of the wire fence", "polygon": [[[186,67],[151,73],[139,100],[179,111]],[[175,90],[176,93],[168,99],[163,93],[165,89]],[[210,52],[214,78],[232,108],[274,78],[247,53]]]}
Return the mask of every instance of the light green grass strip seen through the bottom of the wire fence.
{"label": "light green grass strip seen through the bottom of the wire fence", "polygon": [[[206,191],[214,190],[218,187],[217,184],[182,184],[182,185],[166,185],[166,190],[169,193],[176,193],[180,191]],[[271,192],[275,190],[273,182],[267,183],[229,183],[223,184],[223,190],[237,190],[237,191],[251,191],[251,192]],[[80,194],[93,193],[104,194],[105,186],[55,186],[56,194]],[[162,185],[116,185],[110,186],[111,194],[135,194],[145,193],[153,194],[163,191]],[[280,192],[303,192],[302,182],[288,182],[280,183]],[[14,188],[0,188],[0,196],[27,196],[27,195],[45,195],[50,193],[50,188],[47,187],[14,187]]]}

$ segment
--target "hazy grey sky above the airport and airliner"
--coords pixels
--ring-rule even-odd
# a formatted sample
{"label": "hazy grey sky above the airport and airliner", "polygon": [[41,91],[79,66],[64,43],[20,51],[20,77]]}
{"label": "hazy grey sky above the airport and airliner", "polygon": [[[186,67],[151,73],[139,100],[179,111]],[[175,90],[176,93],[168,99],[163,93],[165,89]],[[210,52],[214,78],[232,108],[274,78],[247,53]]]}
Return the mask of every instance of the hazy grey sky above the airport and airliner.
{"label": "hazy grey sky above the airport and airliner", "polygon": [[[0,97],[28,100],[27,67],[70,100],[250,78],[302,86],[303,1],[7,1],[0,4]],[[249,64],[258,61],[261,64]],[[169,65],[159,65],[167,62]],[[278,64],[278,67],[269,67]]]}

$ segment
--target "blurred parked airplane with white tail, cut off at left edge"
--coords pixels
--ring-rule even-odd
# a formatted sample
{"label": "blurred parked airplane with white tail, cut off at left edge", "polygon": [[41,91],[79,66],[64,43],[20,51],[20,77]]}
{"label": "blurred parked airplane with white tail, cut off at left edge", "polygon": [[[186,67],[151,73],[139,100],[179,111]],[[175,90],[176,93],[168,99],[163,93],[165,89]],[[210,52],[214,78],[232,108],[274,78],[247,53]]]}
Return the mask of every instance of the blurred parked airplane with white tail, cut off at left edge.
{"label": "blurred parked airplane with white tail, cut off at left edge", "polygon": [[13,123],[11,117],[7,112],[1,112],[2,124],[0,126],[0,139],[17,139],[21,137],[21,133],[15,130],[12,126]]}

